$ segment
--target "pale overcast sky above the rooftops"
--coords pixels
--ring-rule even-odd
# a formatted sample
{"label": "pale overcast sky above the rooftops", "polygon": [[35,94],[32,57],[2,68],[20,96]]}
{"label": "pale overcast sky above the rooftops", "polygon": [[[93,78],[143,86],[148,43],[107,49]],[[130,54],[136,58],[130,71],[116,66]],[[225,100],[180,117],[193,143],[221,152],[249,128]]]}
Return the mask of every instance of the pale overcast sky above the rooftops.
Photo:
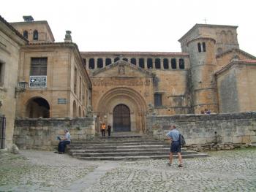
{"label": "pale overcast sky above the rooftops", "polygon": [[180,52],[178,39],[206,18],[238,26],[241,50],[256,55],[255,0],[4,0],[0,15],[47,20],[56,42],[70,30],[80,51]]}

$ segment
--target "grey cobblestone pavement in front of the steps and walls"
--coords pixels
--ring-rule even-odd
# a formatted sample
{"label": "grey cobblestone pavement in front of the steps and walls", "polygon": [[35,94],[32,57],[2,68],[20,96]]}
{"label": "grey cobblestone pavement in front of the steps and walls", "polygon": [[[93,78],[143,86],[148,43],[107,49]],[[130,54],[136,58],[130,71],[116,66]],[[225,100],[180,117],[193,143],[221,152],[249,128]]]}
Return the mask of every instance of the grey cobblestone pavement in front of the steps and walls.
{"label": "grey cobblestone pavement in front of the steps and walls", "polygon": [[80,161],[23,150],[0,154],[0,191],[256,191],[256,148],[184,159]]}

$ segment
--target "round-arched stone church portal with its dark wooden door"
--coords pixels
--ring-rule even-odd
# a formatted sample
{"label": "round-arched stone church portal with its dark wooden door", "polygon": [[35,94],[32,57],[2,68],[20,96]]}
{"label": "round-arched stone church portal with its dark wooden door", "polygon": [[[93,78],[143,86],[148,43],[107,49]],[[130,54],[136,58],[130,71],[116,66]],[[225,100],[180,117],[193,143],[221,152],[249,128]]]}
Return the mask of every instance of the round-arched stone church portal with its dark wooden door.
{"label": "round-arched stone church portal with its dark wooden door", "polygon": [[143,133],[146,127],[146,101],[132,88],[113,88],[97,104],[97,128],[105,123],[114,132]]}

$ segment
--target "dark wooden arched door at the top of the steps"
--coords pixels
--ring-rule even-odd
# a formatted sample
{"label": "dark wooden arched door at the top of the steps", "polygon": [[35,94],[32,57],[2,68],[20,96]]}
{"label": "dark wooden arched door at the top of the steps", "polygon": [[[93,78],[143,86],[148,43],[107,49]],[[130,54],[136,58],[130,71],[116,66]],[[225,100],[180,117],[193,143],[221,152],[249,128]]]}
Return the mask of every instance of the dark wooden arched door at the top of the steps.
{"label": "dark wooden arched door at the top of the steps", "polygon": [[118,104],[113,110],[113,131],[131,131],[129,108]]}

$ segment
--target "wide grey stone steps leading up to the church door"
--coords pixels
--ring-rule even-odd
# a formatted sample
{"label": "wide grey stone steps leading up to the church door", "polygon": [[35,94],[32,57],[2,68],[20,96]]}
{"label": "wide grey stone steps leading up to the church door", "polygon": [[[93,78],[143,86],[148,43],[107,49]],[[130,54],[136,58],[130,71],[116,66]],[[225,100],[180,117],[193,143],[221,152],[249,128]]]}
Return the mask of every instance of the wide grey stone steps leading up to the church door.
{"label": "wide grey stone steps leading up to the church door", "polygon": [[[138,160],[169,158],[170,145],[143,134],[118,133],[111,137],[73,141],[69,155],[83,160]],[[181,149],[183,158],[207,157],[206,153]],[[174,155],[176,157],[176,155]]]}

